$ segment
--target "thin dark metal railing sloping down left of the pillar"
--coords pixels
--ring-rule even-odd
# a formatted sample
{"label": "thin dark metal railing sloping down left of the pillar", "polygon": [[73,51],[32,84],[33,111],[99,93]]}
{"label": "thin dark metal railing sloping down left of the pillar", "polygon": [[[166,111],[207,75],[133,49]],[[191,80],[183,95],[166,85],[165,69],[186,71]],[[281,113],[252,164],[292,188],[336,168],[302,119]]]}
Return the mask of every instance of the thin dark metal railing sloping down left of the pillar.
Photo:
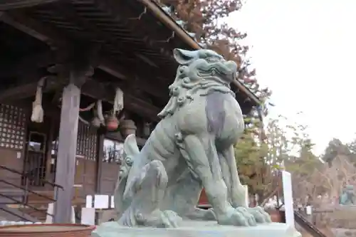
{"label": "thin dark metal railing sloping down left of the pillar", "polygon": [[[54,196],[54,199],[53,199],[53,198],[51,198],[51,197],[49,197],[49,196],[46,196],[46,195],[43,195],[43,194],[38,194],[38,192],[32,191],[31,189],[29,189],[29,185],[28,185],[28,184],[29,184],[29,181],[31,181],[31,179],[33,179],[33,177],[28,176],[28,175],[26,175],[26,174],[23,174],[23,173],[17,171],[16,169],[11,169],[11,168],[9,168],[9,167],[5,167],[4,165],[0,165],[0,169],[4,169],[4,170],[6,170],[6,171],[8,171],[8,172],[11,172],[11,173],[13,173],[13,174],[18,174],[19,176],[21,176],[21,178],[24,178],[24,179],[26,180],[25,185],[24,185],[24,186],[20,186],[20,185],[17,185],[17,184],[12,184],[11,182],[6,181],[6,180],[4,180],[4,179],[0,179],[0,182],[2,182],[2,183],[4,183],[4,184],[7,184],[7,185],[9,185],[9,186],[13,186],[13,187],[15,187],[15,188],[17,188],[17,189],[20,189],[20,190],[24,191],[24,193],[23,193],[23,195],[22,195],[22,200],[21,200],[21,201],[19,201],[18,199],[15,199],[15,198],[14,198],[13,196],[11,196],[11,195],[6,195],[6,194],[1,194],[1,193],[0,193],[0,196],[4,197],[4,198],[6,198],[6,199],[10,199],[11,201],[14,202],[14,204],[19,204],[19,205],[22,205],[22,206],[26,206],[27,208],[33,209],[33,210],[35,210],[35,211],[43,212],[44,214],[53,217],[53,214],[49,214],[47,211],[43,211],[43,210],[41,210],[41,209],[38,209],[36,206],[33,206],[33,205],[31,205],[31,204],[28,204],[28,194],[33,194],[33,195],[39,196],[39,197],[41,197],[41,198],[43,198],[43,199],[46,199],[46,200],[48,200],[48,201],[56,202],[56,200],[57,200],[57,195],[58,195],[58,189],[62,189],[62,190],[63,190],[63,186],[58,185],[58,184],[54,184],[54,183],[52,183],[51,181],[47,181],[47,180],[41,179],[41,181],[42,181],[43,183],[48,184],[48,185],[50,185],[50,186],[53,186],[53,188],[55,189],[55,190],[54,190],[54,195],[55,195],[55,196]],[[23,221],[30,221],[30,220],[28,220],[28,218],[26,218],[26,217],[24,217],[24,216],[21,216],[21,215],[19,215],[19,214],[16,214],[16,213],[14,213],[14,212],[9,211],[9,209],[1,208],[1,206],[0,206],[0,209],[1,209],[2,211],[6,211],[7,213],[12,214],[12,215],[18,217],[18,218],[23,219]]]}

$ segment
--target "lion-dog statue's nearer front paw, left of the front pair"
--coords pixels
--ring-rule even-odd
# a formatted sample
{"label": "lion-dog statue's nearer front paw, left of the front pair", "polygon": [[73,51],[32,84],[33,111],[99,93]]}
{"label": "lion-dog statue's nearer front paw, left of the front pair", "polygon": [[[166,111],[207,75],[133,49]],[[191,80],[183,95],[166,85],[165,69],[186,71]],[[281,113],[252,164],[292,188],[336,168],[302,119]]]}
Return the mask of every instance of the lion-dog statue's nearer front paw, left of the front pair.
{"label": "lion-dog statue's nearer front paw, left of the front pair", "polygon": [[244,207],[231,207],[226,214],[218,217],[218,223],[226,226],[256,226],[255,218]]}

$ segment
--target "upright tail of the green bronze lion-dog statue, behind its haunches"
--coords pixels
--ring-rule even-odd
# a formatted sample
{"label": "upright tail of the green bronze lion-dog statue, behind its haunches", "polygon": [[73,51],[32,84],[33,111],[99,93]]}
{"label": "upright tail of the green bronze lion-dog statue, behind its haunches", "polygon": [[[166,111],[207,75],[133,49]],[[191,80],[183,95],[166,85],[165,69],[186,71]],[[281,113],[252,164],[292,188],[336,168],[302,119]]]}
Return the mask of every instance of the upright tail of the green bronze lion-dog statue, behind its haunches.
{"label": "upright tail of the green bronze lion-dog statue, behind its haunches", "polygon": [[119,175],[117,177],[114,193],[115,211],[117,212],[118,218],[122,216],[124,211],[128,206],[130,206],[131,203],[130,199],[125,199],[124,194],[127,177],[135,157],[137,157],[138,154],[140,154],[140,149],[138,149],[135,135],[128,135],[124,142],[124,157],[122,159],[122,164],[120,167]]}

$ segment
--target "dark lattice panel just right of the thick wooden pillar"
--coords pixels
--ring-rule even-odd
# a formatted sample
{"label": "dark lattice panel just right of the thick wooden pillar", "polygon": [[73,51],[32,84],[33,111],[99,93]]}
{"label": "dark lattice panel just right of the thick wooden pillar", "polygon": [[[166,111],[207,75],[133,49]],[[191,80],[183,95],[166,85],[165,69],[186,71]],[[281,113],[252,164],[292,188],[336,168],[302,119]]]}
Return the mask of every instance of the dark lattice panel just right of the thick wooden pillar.
{"label": "dark lattice panel just right of the thick wooden pillar", "polygon": [[92,127],[78,122],[77,154],[85,159],[96,159],[96,144],[98,142],[97,131]]}

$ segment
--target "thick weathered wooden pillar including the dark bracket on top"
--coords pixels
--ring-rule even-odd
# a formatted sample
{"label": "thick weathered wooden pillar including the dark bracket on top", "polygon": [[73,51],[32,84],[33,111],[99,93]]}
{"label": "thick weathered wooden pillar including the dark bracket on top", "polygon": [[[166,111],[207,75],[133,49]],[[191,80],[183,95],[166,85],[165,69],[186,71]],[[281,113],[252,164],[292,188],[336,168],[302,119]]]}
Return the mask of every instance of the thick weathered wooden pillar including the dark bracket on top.
{"label": "thick weathered wooden pillar including the dark bracket on top", "polygon": [[[76,149],[78,137],[78,117],[80,105],[80,87],[93,75],[92,66],[98,47],[85,42],[77,42],[68,48],[57,48],[58,64],[51,68],[58,79],[67,81],[63,89],[61,122],[58,137],[56,163],[56,184],[63,186],[57,189],[54,205],[54,223],[70,223],[72,200],[74,195],[74,178],[76,168]],[[94,60],[95,61],[95,60]]]}

